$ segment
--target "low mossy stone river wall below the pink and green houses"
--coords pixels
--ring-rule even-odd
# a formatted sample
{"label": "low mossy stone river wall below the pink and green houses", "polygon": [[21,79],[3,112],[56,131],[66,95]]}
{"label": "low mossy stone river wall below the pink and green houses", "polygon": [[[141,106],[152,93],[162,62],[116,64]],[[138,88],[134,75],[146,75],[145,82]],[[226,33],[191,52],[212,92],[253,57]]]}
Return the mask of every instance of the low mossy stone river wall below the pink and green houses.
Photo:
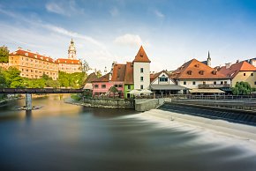
{"label": "low mossy stone river wall below the pink and green houses", "polygon": [[88,107],[134,108],[134,100],[124,99],[85,99],[84,103]]}

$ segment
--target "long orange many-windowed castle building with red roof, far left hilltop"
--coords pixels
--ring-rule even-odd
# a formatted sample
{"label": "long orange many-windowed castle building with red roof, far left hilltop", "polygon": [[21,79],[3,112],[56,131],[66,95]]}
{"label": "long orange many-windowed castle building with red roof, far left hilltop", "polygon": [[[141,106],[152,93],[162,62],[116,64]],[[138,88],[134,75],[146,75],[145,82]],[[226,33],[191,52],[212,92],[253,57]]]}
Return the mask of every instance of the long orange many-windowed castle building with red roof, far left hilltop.
{"label": "long orange many-windowed castle building with red roof, far left hilltop", "polygon": [[58,64],[49,56],[19,48],[9,55],[9,66],[17,68],[24,78],[41,78],[43,74],[58,78]]}

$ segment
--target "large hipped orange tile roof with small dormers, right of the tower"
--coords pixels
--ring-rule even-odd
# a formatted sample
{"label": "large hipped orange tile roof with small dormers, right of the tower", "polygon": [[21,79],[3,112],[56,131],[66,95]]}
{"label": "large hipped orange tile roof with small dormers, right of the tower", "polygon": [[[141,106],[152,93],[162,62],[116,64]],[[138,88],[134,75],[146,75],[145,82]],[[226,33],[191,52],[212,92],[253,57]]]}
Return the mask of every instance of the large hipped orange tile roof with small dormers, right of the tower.
{"label": "large hipped orange tile roof with small dormers, right of the tower", "polygon": [[170,74],[170,78],[175,79],[205,79],[205,78],[227,78],[224,74],[215,69],[207,66],[204,63],[200,63],[196,59],[192,59],[191,61],[184,63],[181,67],[179,67],[176,71],[173,71]]}

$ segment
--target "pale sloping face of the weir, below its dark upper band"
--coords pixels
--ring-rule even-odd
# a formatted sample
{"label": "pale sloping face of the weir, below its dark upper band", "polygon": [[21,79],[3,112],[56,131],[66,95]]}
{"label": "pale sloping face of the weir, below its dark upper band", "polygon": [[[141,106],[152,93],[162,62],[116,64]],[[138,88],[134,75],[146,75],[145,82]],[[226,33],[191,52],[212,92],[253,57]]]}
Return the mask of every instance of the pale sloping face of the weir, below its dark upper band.
{"label": "pale sloping face of the weir, below its dark upper band", "polygon": [[176,112],[152,109],[141,116],[152,122],[182,123],[187,126],[197,127],[201,130],[209,129],[228,137],[236,137],[246,141],[253,141],[256,145],[256,127],[240,123],[230,123],[223,120],[213,120],[194,115],[184,115]]}

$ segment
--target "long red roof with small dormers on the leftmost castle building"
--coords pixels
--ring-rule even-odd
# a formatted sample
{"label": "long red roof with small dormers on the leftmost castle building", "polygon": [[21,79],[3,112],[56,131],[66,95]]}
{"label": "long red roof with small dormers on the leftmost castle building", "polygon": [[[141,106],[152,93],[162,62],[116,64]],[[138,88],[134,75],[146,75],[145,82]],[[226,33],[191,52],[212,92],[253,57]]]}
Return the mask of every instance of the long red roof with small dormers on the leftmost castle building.
{"label": "long red roof with small dormers on the leftmost castle building", "polygon": [[27,56],[27,57],[30,57],[30,58],[39,59],[41,61],[46,61],[46,62],[49,62],[49,63],[56,63],[56,61],[54,59],[52,59],[51,57],[49,57],[49,56],[42,56],[38,53],[34,53],[34,52],[29,51],[29,50],[24,50],[24,49],[21,49],[21,48],[19,48],[15,52],[10,53],[10,56]]}

